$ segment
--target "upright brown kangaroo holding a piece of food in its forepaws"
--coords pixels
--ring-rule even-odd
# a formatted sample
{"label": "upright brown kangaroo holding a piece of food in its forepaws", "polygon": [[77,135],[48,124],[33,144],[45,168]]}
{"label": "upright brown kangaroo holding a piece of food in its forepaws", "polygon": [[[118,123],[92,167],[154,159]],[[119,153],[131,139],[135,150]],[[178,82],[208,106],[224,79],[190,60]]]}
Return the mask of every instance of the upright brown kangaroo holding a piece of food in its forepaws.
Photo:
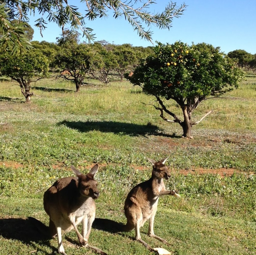
{"label": "upright brown kangaroo holding a piece of food in its forepaws", "polygon": [[155,251],[145,241],[141,239],[140,227],[149,219],[147,234],[154,237],[165,244],[169,244],[166,240],[154,234],[154,218],[157,210],[159,196],[172,195],[180,197],[175,190],[166,190],[163,182],[164,179],[170,178],[168,167],[164,165],[168,157],[159,161],[147,158],[153,165],[152,176],[149,180],[142,182],[131,189],[124,203],[124,213],[127,223],[124,231],[131,231],[135,228],[135,238],[143,243],[150,251]]}

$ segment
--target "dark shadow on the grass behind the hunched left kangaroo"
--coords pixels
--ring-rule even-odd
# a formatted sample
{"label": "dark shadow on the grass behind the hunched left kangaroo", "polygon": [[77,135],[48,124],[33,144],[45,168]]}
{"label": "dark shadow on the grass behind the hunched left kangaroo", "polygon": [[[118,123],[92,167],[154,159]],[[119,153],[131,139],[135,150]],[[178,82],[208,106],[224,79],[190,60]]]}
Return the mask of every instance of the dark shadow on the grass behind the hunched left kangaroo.
{"label": "dark shadow on the grass behind the hunched left kangaroo", "polygon": [[52,254],[55,254],[57,251],[55,247],[50,245],[49,237],[40,233],[35,227],[34,222],[29,220],[29,218],[0,219],[0,236],[6,239],[16,239],[33,247],[33,242],[40,243],[40,245],[51,247],[53,250]]}

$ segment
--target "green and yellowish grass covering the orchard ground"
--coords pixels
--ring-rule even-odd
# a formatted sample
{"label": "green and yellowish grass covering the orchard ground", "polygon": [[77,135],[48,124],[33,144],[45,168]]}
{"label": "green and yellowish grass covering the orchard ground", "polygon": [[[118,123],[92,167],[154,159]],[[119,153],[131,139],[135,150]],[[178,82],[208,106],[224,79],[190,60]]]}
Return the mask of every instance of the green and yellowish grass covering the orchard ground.
{"label": "green and yellowish grass covering the orchard ground", "polygon": [[[171,245],[147,237],[147,223],[142,239],[175,255],[256,254],[256,75],[198,107],[195,120],[216,110],[193,127],[194,140],[180,139],[182,129],[145,105],[154,98],[140,88],[92,82],[74,93],[72,83],[40,80],[33,91],[41,97],[30,104],[13,82],[0,83],[0,254],[57,253],[57,240],[37,240],[26,217],[47,224],[42,196],[55,180],[73,175],[71,164],[87,172],[99,163],[96,217],[125,222],[127,193],[151,174],[146,157],[167,155],[172,178],[166,186],[182,198],[160,198],[154,230]],[[204,169],[231,174],[199,174]],[[150,254],[134,236],[94,227],[89,243],[108,254]],[[79,248],[74,231],[63,243],[67,254],[92,253]]]}

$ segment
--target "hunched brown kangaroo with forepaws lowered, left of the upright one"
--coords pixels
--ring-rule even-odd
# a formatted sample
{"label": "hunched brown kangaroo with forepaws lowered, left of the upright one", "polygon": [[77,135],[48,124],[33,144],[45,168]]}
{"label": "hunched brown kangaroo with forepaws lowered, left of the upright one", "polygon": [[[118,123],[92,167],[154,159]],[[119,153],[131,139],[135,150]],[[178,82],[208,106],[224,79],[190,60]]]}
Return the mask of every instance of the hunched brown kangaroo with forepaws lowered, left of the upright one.
{"label": "hunched brown kangaroo with forepaws lowered, left of the upright one", "polygon": [[[95,201],[99,197],[97,182],[94,175],[98,165],[84,175],[74,166],[71,166],[77,177],[65,177],[57,180],[44,194],[44,209],[50,216],[49,231],[52,237],[58,236],[58,251],[65,253],[61,241],[61,229],[70,231],[75,229],[81,246],[106,255],[105,252],[88,244],[92,222],[95,219]],[[77,225],[82,222],[82,234],[77,230]]]}

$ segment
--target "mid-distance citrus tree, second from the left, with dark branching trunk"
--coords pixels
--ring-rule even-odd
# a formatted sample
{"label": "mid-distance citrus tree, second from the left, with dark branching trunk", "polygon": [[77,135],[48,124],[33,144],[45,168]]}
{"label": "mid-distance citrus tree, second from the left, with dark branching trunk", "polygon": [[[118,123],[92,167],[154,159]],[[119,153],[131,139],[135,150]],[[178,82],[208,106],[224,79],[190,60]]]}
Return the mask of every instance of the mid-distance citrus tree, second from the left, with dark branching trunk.
{"label": "mid-distance citrus tree, second from the left, with dark branching trunk", "polygon": [[98,70],[103,66],[100,54],[90,45],[74,44],[62,47],[57,53],[53,66],[67,73],[58,77],[73,81],[76,84],[76,92],[83,85],[89,72]]}

